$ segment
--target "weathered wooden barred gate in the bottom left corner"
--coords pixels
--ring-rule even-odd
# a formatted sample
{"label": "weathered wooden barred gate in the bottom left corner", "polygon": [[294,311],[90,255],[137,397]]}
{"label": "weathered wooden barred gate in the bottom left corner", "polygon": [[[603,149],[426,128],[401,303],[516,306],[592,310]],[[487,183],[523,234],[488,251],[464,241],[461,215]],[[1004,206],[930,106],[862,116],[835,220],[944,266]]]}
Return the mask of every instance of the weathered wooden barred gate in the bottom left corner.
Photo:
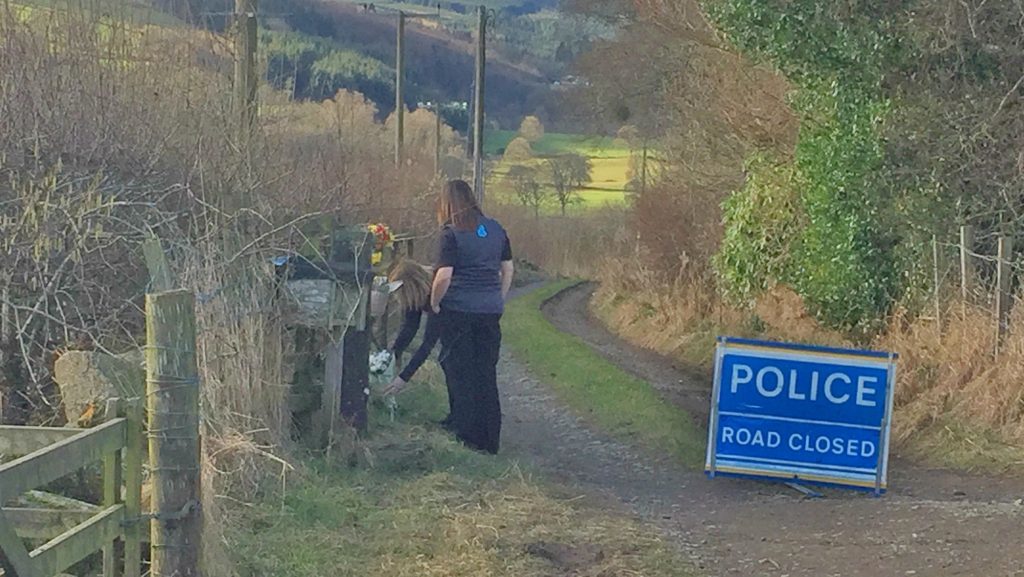
{"label": "weathered wooden barred gate in the bottom left corner", "polygon": [[[0,426],[0,505],[94,463],[103,467],[103,501],[95,510],[0,508],[0,575],[53,577],[97,551],[103,576],[121,574],[115,543],[124,543],[123,571],[138,577],[141,535],[141,404],[108,404],[117,415],[89,429]],[[123,492],[122,492],[123,491]],[[45,541],[34,548],[26,540]]]}

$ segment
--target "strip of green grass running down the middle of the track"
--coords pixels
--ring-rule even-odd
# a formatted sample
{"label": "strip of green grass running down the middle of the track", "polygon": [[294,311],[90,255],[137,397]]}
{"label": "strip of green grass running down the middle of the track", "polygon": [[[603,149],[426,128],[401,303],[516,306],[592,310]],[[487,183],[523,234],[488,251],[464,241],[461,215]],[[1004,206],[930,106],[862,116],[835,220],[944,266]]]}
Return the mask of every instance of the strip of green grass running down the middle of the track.
{"label": "strip of green grass running down the middle of the track", "polygon": [[620,369],[544,317],[544,301],[571,286],[555,282],[512,300],[502,321],[506,342],[574,410],[611,435],[700,465],[705,435],[650,384]]}

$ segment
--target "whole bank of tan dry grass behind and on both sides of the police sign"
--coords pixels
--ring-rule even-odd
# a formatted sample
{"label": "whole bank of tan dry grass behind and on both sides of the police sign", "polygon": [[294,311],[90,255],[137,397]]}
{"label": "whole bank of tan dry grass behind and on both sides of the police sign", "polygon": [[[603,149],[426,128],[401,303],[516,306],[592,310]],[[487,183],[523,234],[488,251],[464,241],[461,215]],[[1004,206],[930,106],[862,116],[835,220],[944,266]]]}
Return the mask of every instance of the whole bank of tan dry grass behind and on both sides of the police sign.
{"label": "whole bank of tan dry grass behind and on both sides of the police sign", "polygon": [[[638,345],[705,368],[721,334],[856,344],[819,327],[800,297],[782,287],[752,311],[740,311],[722,303],[706,282],[667,283],[632,262],[609,265],[601,278],[594,306],[610,328]],[[1024,466],[1024,332],[1012,331],[994,359],[988,312],[956,303],[946,317],[941,335],[929,319],[896,317],[888,331],[866,343],[900,356],[894,441],[902,450],[947,466],[1019,470]],[[1024,326],[1020,307],[1012,326]]]}

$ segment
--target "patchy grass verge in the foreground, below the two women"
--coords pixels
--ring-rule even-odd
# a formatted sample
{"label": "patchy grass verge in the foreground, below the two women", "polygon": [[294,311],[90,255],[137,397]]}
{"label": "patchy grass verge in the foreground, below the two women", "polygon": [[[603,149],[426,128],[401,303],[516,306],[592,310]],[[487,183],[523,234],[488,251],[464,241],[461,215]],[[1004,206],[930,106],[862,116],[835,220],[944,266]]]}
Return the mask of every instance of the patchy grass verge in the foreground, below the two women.
{"label": "patchy grass verge in the foreground, below the two women", "polygon": [[240,576],[692,575],[637,522],[429,425],[446,401],[439,371],[427,372],[394,422],[375,407],[358,464],[311,461],[283,495],[236,507],[226,535]]}

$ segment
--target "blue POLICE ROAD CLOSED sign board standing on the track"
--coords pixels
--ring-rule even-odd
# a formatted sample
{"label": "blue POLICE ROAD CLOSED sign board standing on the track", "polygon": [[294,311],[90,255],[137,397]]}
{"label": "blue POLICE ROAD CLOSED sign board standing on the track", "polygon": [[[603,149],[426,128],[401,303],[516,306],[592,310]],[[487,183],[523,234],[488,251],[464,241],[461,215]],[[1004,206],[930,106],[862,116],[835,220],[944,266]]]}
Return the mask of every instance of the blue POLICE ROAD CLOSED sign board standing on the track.
{"label": "blue POLICE ROAD CLOSED sign board standing on the track", "polygon": [[896,356],[719,339],[709,476],[886,490]]}

